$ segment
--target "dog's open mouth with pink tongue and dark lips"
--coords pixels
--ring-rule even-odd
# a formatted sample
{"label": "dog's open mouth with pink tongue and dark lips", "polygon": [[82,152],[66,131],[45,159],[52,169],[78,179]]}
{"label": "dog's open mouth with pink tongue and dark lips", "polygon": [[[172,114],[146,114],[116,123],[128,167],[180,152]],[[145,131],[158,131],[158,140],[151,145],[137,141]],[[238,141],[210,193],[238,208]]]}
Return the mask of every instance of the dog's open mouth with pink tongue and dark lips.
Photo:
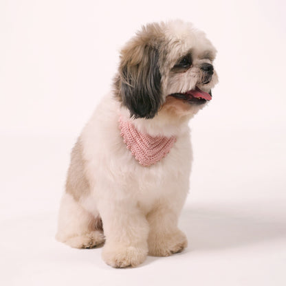
{"label": "dog's open mouth with pink tongue and dark lips", "polygon": [[199,89],[199,87],[196,87],[195,89],[191,89],[184,94],[170,94],[170,96],[184,100],[190,104],[204,104],[212,99],[212,91],[210,90],[209,93],[207,93]]}

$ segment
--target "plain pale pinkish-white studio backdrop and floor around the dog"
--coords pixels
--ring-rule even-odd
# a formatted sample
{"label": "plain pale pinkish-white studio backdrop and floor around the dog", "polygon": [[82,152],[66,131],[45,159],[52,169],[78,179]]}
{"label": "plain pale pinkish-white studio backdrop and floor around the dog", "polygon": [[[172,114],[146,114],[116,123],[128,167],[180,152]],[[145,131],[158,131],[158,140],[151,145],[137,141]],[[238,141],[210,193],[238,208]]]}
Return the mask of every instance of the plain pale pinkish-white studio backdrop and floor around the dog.
{"label": "plain pale pinkish-white studio backdrop and floor around the dog", "polygon": [[[0,3],[1,285],[285,285],[285,1]],[[54,240],[69,153],[151,21],[191,21],[219,84],[191,120],[189,247],[114,270]],[[2,280],[2,281],[1,281]]]}

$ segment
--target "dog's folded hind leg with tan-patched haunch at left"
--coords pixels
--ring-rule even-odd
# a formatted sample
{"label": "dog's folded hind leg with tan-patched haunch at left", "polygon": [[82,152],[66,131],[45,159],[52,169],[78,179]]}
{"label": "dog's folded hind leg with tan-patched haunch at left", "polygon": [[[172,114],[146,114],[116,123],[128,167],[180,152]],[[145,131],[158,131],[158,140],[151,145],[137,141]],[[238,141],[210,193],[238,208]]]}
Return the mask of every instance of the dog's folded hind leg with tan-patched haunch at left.
{"label": "dog's folded hind leg with tan-patched haunch at left", "polygon": [[88,197],[89,192],[89,182],[85,176],[83,147],[79,138],[72,150],[56,234],[58,241],[72,248],[91,248],[104,242],[102,221],[96,206],[92,208],[91,213],[80,205],[80,200]]}

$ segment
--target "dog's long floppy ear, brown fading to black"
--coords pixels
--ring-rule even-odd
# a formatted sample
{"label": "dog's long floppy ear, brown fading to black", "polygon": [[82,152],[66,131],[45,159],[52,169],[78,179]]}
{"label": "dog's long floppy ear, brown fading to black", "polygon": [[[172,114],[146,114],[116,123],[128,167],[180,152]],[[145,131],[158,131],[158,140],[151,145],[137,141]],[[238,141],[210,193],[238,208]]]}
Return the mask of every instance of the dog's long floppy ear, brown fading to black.
{"label": "dog's long floppy ear, brown fading to black", "polygon": [[149,45],[133,45],[121,54],[120,96],[133,118],[153,118],[161,104],[159,52]]}

